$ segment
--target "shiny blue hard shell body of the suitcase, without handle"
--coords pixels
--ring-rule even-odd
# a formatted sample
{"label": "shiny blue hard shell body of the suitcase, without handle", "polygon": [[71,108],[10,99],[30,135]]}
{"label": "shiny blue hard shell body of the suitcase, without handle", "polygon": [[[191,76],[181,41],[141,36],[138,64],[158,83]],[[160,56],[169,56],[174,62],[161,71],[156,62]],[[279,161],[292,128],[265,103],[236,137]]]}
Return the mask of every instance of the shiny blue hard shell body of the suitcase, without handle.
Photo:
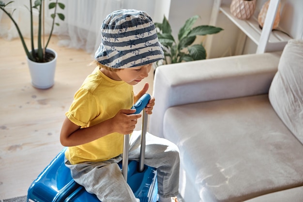
{"label": "shiny blue hard shell body of the suitcase, without handle", "polygon": [[[64,165],[64,148],[31,184],[28,202],[99,202],[94,195],[85,191],[72,178],[69,168]],[[140,202],[157,201],[156,169],[145,166],[137,171],[138,162],[129,161],[127,183]],[[121,167],[121,163],[120,163]]]}

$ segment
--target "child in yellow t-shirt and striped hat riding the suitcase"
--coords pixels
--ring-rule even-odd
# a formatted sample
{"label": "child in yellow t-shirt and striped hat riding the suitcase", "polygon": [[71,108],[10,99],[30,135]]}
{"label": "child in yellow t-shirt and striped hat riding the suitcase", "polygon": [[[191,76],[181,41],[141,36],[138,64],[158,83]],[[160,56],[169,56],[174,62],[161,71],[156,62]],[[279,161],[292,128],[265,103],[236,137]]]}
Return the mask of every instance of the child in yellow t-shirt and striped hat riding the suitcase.
{"label": "child in yellow t-shirt and striped hat riding the suitcase", "polygon": [[[139,202],[124,181],[123,134],[130,134],[129,159],[138,160],[140,114],[132,114],[133,85],[148,76],[152,63],[164,58],[151,17],[142,11],[120,10],[106,16],[102,42],[95,53],[97,67],[76,92],[66,112],[60,141],[68,146],[65,165],[74,180],[102,202]],[[152,113],[155,99],[145,108]],[[177,202],[179,151],[175,144],[147,133],[145,164],[157,168],[159,202]]]}

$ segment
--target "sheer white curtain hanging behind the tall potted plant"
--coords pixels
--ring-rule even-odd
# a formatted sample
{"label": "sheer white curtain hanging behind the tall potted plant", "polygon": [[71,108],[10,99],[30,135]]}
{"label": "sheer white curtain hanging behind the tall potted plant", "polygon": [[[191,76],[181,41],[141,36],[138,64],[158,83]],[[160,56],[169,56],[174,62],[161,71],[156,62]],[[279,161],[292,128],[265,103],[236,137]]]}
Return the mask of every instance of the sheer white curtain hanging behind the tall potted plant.
{"label": "sheer white curtain hanging behind the tall potted plant", "polygon": [[[5,3],[10,0],[4,0]],[[32,0],[34,1],[34,0]],[[59,13],[65,15],[65,20],[61,21],[57,17],[56,22],[60,26],[55,26],[54,34],[58,35],[59,45],[81,48],[89,53],[93,53],[100,45],[101,31],[100,27],[103,19],[109,13],[119,9],[136,9],[146,11],[152,18],[154,15],[163,14],[157,13],[156,6],[159,6],[161,0],[59,0],[65,4],[65,9],[62,11],[58,9]],[[167,0],[164,0],[167,1]],[[10,4],[8,10],[14,11],[14,18],[17,19],[18,25],[25,37],[30,35],[30,13],[29,0],[15,0]],[[54,0],[52,0],[54,2]],[[170,0],[169,0],[170,2]],[[45,0],[48,5],[49,0]],[[160,3],[161,4],[161,3]],[[26,5],[26,6],[25,6]],[[161,5],[160,5],[161,6]],[[51,24],[50,14],[48,9],[45,9],[46,22]],[[37,15],[37,12],[35,12]],[[157,16],[157,19],[159,16]],[[9,22],[9,23],[8,23]],[[48,28],[50,26],[47,26]],[[45,30],[45,33],[50,29]],[[7,18],[2,11],[0,11],[0,37],[13,39],[18,37],[15,26]]]}

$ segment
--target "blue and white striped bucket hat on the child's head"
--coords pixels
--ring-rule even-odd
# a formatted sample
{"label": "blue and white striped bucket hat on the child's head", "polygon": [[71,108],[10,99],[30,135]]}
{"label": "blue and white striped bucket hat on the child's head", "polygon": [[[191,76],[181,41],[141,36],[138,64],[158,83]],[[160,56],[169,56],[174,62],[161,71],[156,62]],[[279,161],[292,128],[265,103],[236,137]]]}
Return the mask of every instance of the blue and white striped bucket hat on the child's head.
{"label": "blue and white striped bucket hat on the child's head", "polygon": [[123,69],[163,58],[155,26],[147,13],[123,9],[106,16],[101,26],[96,61],[107,67]]}

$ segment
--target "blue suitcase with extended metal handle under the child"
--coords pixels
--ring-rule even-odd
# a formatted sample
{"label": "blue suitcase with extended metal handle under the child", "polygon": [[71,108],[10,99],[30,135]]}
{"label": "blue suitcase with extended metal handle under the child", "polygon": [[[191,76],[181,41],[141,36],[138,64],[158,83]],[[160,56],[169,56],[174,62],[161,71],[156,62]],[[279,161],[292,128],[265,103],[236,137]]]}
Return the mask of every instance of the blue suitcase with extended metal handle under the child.
{"label": "blue suitcase with extended metal handle under the child", "polygon": [[[150,100],[144,94],[133,106],[135,113],[145,108]],[[140,161],[128,161],[129,135],[124,135],[123,160],[119,163],[122,174],[140,202],[156,202],[158,197],[157,171],[144,165],[147,114],[143,111]],[[77,184],[69,168],[64,165],[64,148],[32,182],[28,190],[28,202],[99,202],[94,194],[88,193]]]}

